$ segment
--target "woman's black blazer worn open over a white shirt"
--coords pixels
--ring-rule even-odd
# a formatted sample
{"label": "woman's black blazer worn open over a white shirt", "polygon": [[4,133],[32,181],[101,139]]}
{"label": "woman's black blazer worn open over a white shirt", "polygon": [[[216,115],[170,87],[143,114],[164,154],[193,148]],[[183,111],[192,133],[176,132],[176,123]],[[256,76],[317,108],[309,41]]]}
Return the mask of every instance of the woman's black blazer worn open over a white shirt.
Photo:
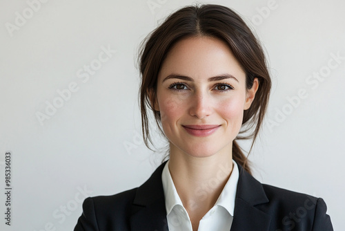
{"label": "woman's black blazer worn open over a white shirt", "polygon": [[[112,196],[86,198],[75,231],[168,230],[161,182],[164,165],[140,187]],[[239,166],[230,231],[261,230],[331,231],[333,228],[322,198],[264,185]]]}

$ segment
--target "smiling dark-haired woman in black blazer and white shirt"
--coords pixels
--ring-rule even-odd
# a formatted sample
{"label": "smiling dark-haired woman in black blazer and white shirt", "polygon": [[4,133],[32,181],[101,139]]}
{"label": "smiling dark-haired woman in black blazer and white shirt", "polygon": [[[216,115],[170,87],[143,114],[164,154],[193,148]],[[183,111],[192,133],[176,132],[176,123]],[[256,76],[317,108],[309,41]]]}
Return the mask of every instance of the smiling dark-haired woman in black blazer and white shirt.
{"label": "smiling dark-haired woman in black blazer and white shirt", "polygon": [[236,140],[254,143],[271,83],[261,46],[233,10],[173,13],[146,39],[140,71],[144,140],[152,144],[152,111],[170,158],[138,188],[87,198],[75,230],[333,230],[322,198],[250,175]]}

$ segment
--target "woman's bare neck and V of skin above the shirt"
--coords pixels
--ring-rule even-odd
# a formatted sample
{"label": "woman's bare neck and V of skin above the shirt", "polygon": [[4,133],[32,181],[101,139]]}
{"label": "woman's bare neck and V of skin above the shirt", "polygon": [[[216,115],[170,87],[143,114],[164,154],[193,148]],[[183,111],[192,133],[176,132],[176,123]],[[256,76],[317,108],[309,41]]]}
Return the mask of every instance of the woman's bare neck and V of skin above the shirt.
{"label": "woman's bare neck and V of skin above the shirt", "polygon": [[194,157],[170,148],[169,170],[190,220],[199,220],[215,205],[233,170],[231,152]]}

